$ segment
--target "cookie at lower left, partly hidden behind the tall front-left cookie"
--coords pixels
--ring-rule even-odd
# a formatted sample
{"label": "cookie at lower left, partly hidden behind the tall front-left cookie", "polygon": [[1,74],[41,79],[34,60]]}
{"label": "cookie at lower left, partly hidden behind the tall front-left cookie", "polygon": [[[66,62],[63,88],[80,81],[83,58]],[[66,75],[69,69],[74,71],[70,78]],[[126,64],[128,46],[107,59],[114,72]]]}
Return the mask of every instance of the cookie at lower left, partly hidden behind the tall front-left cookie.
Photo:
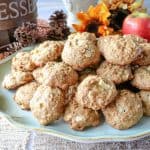
{"label": "cookie at lower left, partly hidden behind the tall front-left cookie", "polygon": [[38,84],[36,82],[30,82],[19,87],[14,95],[15,102],[22,109],[30,110],[30,100],[37,88]]}

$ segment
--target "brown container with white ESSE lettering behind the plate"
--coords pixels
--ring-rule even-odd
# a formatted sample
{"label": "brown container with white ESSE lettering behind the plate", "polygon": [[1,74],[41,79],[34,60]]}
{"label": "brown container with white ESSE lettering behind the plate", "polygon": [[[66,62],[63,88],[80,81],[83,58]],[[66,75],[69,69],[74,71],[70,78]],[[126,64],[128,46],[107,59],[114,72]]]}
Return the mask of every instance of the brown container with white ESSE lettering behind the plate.
{"label": "brown container with white ESSE lettering behind the plate", "polygon": [[37,0],[0,0],[0,46],[14,41],[16,27],[36,22]]}

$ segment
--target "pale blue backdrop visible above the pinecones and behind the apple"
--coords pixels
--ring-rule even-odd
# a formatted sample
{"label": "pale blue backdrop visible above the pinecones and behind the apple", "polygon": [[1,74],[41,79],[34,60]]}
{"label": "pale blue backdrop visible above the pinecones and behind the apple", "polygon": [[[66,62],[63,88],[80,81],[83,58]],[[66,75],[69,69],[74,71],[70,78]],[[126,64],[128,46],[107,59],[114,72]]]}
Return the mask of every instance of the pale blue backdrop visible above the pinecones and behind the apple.
{"label": "pale blue backdrop visible above the pinecones and behind the apple", "polygon": [[[150,14],[150,0],[145,0],[144,5]],[[61,9],[65,10],[62,0],[38,0],[39,18],[48,19],[53,11]]]}

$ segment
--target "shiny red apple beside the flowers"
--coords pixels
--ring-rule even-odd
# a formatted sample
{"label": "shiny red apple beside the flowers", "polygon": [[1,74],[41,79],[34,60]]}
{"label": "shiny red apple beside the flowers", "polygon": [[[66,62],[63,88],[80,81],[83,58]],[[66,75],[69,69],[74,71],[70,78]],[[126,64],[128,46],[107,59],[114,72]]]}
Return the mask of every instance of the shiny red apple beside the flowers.
{"label": "shiny red apple beside the flowers", "polygon": [[136,12],[127,16],[123,22],[123,34],[134,34],[150,41],[150,16]]}

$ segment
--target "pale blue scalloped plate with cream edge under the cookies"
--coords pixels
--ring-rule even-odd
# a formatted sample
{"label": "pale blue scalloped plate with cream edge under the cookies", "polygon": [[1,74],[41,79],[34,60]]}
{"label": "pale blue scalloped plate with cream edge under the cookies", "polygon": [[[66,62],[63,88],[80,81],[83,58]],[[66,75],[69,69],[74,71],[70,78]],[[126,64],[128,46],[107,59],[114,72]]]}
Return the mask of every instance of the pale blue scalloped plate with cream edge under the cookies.
{"label": "pale blue scalloped plate with cream edge under the cookies", "polygon": [[[27,48],[26,50],[30,49]],[[139,124],[124,131],[113,129],[105,122],[99,127],[90,128],[83,132],[70,129],[63,120],[46,127],[39,125],[31,112],[21,110],[13,101],[14,92],[1,87],[4,76],[10,72],[10,64],[11,60],[0,65],[0,114],[6,117],[12,125],[84,143],[131,141],[150,135],[150,118],[148,117],[143,117]]]}

